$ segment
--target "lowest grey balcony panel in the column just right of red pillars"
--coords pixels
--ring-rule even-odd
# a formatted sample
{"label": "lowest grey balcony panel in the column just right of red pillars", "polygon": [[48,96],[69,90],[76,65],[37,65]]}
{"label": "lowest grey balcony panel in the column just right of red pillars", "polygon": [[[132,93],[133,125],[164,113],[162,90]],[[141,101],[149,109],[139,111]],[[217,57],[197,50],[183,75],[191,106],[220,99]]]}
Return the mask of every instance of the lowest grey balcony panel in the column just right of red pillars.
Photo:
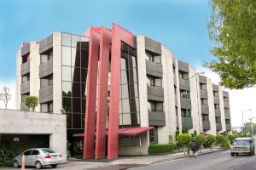
{"label": "lowest grey balcony panel in the column just right of red pillars", "polygon": [[148,124],[150,126],[166,126],[166,116],[164,111],[148,111]]}

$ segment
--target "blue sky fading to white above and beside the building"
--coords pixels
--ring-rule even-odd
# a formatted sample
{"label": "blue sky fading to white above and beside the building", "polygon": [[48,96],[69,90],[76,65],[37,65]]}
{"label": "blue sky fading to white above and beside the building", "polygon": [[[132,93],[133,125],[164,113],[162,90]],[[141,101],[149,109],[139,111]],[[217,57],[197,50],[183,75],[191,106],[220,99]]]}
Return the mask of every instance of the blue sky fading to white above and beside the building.
{"label": "blue sky fading to white above and beside the building", "polygon": [[[15,60],[21,42],[41,41],[53,31],[82,34],[90,26],[111,27],[113,22],[162,42],[177,59],[206,71],[218,83],[218,75],[202,66],[214,59],[207,35],[210,14],[207,0],[0,1],[0,91],[11,88],[9,108],[15,109]],[[241,111],[256,111],[253,95],[255,88],[230,91],[233,126],[241,126]],[[248,114],[253,116],[253,111]]]}

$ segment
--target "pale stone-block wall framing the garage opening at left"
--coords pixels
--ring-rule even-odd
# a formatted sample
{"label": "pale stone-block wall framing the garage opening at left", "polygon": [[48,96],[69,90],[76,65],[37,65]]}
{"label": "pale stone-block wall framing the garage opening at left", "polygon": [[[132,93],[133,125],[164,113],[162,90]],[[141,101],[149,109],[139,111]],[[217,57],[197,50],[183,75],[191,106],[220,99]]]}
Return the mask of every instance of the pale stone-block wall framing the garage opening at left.
{"label": "pale stone-block wall framing the garage opening at left", "polygon": [[49,147],[67,160],[66,115],[0,109],[0,134],[49,134]]}

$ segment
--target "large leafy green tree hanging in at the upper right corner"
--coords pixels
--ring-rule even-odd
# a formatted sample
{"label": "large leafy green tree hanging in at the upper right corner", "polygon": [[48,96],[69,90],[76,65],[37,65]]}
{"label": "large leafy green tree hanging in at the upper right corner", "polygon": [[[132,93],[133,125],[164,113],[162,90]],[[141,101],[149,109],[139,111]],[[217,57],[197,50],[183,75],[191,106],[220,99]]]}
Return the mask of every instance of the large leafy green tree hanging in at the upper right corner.
{"label": "large leafy green tree hanging in at the upper right corner", "polygon": [[217,57],[206,64],[218,73],[220,84],[241,89],[256,84],[256,3],[255,0],[212,0],[209,37]]}

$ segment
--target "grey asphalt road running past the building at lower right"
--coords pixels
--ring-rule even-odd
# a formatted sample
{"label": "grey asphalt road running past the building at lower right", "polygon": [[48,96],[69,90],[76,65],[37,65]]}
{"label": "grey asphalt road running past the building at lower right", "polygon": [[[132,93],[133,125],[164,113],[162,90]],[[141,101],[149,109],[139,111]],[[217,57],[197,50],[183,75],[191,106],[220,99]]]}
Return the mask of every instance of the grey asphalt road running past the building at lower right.
{"label": "grey asphalt road running past the building at lower right", "polygon": [[256,170],[256,156],[230,156],[230,150],[188,157],[173,161],[154,163],[146,167],[135,167],[129,170]]}

